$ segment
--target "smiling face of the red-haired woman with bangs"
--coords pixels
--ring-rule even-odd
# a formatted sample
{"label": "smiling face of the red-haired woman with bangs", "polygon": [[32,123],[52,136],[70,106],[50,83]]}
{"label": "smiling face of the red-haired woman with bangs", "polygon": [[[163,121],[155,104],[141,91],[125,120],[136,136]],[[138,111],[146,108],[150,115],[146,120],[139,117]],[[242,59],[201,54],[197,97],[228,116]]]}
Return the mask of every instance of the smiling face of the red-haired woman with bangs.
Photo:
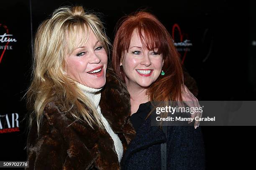
{"label": "smiling face of the red-haired woman with bangs", "polygon": [[150,86],[159,77],[163,65],[163,56],[157,52],[157,49],[148,50],[134,30],[128,51],[124,51],[120,61],[125,73],[126,85],[144,88]]}

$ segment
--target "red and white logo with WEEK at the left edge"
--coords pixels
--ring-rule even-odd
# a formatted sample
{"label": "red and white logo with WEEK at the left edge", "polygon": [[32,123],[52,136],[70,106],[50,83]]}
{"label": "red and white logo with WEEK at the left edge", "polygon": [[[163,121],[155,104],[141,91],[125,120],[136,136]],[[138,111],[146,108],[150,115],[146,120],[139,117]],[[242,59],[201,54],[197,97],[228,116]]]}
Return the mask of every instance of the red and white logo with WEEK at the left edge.
{"label": "red and white logo with WEEK at the left edge", "polygon": [[[3,59],[3,56],[5,54],[6,50],[12,50],[13,46],[9,45],[10,42],[17,42],[17,40],[15,38],[10,38],[11,36],[13,36],[12,34],[9,34],[9,30],[8,27],[6,25],[0,24],[0,28],[4,28],[4,33],[0,34],[0,50],[3,50],[2,52],[0,52],[0,63]],[[3,44],[3,45],[2,45]]]}

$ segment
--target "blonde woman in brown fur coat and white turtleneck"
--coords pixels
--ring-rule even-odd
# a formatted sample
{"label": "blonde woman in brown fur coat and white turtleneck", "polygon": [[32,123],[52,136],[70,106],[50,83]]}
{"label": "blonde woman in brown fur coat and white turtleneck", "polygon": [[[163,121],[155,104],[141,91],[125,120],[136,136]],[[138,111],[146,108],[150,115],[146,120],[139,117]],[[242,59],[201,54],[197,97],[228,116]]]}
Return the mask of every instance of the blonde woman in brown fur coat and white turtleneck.
{"label": "blonde woman in brown fur coat and white turtleneck", "polygon": [[28,169],[118,170],[135,131],[130,96],[108,63],[100,20],[61,7],[38,28],[27,92]]}

